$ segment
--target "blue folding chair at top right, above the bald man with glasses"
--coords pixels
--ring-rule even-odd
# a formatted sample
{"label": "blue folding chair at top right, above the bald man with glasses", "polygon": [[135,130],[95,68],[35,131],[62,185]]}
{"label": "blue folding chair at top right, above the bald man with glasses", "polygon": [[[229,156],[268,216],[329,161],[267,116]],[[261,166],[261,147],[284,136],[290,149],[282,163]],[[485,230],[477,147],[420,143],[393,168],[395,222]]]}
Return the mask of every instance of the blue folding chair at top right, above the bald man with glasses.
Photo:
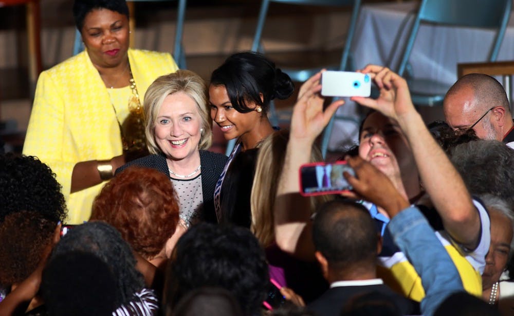
{"label": "blue folding chair at top right, above the bald man with glasses", "polygon": [[484,61],[495,61],[503,41],[505,29],[510,17],[512,0],[422,0],[407,42],[397,73],[405,77],[409,84],[412,101],[416,106],[440,106],[448,85],[427,80],[417,79],[409,64],[409,57],[414,46],[417,32],[421,23],[432,25],[449,25],[476,27],[497,30],[490,48],[489,56]]}

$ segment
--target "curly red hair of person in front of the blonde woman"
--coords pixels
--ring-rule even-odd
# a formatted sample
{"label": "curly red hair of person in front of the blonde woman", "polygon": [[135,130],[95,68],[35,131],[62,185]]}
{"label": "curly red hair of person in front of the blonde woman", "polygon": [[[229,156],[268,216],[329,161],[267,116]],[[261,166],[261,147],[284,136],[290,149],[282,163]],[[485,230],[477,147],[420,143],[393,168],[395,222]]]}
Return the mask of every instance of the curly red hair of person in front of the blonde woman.
{"label": "curly red hair of person in front of the blonde woman", "polygon": [[113,225],[137,253],[151,259],[175,233],[179,207],[165,174],[132,166],[102,188],[93,203],[91,220]]}

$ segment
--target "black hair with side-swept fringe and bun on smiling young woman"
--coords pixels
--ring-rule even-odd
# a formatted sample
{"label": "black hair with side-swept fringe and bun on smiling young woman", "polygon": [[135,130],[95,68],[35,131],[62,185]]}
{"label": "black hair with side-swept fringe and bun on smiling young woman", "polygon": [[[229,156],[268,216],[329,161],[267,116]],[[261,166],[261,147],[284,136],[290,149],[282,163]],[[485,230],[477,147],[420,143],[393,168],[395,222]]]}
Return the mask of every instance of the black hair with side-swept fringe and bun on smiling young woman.
{"label": "black hair with side-swept fringe and bun on smiling young woman", "polygon": [[287,99],[295,89],[287,74],[253,51],[238,52],[227,58],[212,72],[211,84],[224,85],[232,107],[240,113],[254,110],[247,102],[257,104],[266,112],[271,100]]}

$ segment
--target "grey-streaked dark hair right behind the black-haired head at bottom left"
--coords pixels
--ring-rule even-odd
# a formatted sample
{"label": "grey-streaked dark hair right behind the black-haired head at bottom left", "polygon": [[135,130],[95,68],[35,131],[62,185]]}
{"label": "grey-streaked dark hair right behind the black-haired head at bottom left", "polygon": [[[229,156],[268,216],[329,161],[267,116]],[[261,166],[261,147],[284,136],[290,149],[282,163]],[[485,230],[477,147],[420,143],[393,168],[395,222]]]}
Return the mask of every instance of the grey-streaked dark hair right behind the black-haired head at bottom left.
{"label": "grey-streaked dark hair right behind the black-haired head at bottom left", "polygon": [[116,280],[116,306],[126,305],[144,287],[143,275],[136,270],[130,245],[120,233],[104,222],[87,222],[71,229],[53,248],[50,261],[60,255],[90,253],[109,266]]}

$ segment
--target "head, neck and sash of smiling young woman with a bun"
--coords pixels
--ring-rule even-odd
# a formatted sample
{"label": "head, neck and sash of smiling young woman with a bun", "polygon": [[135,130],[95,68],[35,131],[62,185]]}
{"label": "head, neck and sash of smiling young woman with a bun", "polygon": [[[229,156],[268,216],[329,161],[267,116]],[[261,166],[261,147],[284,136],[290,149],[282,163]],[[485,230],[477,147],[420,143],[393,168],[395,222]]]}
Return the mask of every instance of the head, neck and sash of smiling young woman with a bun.
{"label": "head, neck and sash of smiling young woman with a bun", "polygon": [[214,190],[218,220],[221,187],[232,159],[240,151],[258,148],[275,131],[267,116],[269,104],[275,98],[288,98],[293,90],[291,78],[257,52],[233,54],[212,73],[211,118],[221,128],[225,139],[237,139]]}

